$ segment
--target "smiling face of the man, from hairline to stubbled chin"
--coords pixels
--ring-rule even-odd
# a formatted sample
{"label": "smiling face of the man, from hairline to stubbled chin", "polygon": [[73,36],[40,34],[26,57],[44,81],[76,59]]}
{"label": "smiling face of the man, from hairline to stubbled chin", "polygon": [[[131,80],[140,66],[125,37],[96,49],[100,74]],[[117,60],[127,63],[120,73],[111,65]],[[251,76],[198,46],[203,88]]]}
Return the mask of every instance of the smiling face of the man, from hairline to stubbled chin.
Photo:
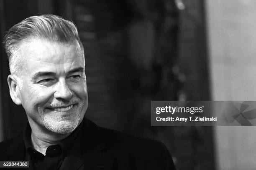
{"label": "smiling face of the man, from hairline to stubbled chin", "polygon": [[31,128],[54,133],[72,132],[87,110],[84,56],[77,42],[22,42],[23,63],[18,84]]}

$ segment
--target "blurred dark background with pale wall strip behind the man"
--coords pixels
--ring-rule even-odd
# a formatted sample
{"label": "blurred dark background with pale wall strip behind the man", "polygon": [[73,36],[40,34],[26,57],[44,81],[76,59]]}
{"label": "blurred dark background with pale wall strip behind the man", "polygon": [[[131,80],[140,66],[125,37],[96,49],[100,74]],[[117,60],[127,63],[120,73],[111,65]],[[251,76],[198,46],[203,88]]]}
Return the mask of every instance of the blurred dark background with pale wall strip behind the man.
{"label": "blurred dark background with pale wall strip behind the man", "polygon": [[[152,100],[256,100],[255,0],[0,0],[0,40],[39,14],[72,20],[85,48],[87,117],[162,141],[177,170],[253,170],[256,128],[151,126]],[[0,141],[27,123],[0,48]]]}

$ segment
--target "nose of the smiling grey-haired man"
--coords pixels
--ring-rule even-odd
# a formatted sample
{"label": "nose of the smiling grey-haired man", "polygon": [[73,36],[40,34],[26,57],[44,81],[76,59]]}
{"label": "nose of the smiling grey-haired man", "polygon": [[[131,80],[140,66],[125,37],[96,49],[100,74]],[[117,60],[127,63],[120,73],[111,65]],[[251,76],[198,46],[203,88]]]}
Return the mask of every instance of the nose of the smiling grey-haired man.
{"label": "nose of the smiling grey-haired man", "polygon": [[54,97],[64,100],[68,100],[70,99],[70,97],[72,97],[72,91],[69,89],[69,86],[67,85],[65,79],[60,79],[59,82],[57,82]]}

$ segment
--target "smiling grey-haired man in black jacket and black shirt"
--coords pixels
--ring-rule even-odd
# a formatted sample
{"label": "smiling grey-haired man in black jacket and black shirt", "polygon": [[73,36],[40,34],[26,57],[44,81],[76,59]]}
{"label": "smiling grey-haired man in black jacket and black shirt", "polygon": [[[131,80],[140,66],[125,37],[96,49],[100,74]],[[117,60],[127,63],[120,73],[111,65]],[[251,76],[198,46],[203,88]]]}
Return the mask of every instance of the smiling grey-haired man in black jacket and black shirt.
{"label": "smiling grey-haired man in black jacket and black shirt", "polygon": [[88,95],[77,28],[56,15],[33,16],[5,35],[10,96],[26,111],[23,134],[0,143],[0,161],[33,170],[172,170],[159,142],[100,128],[84,118]]}

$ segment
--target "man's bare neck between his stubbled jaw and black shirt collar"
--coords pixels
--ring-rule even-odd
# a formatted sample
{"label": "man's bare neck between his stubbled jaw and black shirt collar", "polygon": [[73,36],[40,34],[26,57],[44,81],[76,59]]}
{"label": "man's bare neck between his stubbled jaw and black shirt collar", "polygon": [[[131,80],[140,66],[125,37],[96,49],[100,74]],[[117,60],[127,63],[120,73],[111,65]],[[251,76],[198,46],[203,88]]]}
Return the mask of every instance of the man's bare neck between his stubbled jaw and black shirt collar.
{"label": "man's bare neck between his stubbled jaw and black shirt collar", "polygon": [[59,141],[67,138],[71,133],[57,134],[47,129],[41,130],[37,126],[31,125],[31,143],[38,152],[46,155],[46,150],[51,145],[56,145]]}

